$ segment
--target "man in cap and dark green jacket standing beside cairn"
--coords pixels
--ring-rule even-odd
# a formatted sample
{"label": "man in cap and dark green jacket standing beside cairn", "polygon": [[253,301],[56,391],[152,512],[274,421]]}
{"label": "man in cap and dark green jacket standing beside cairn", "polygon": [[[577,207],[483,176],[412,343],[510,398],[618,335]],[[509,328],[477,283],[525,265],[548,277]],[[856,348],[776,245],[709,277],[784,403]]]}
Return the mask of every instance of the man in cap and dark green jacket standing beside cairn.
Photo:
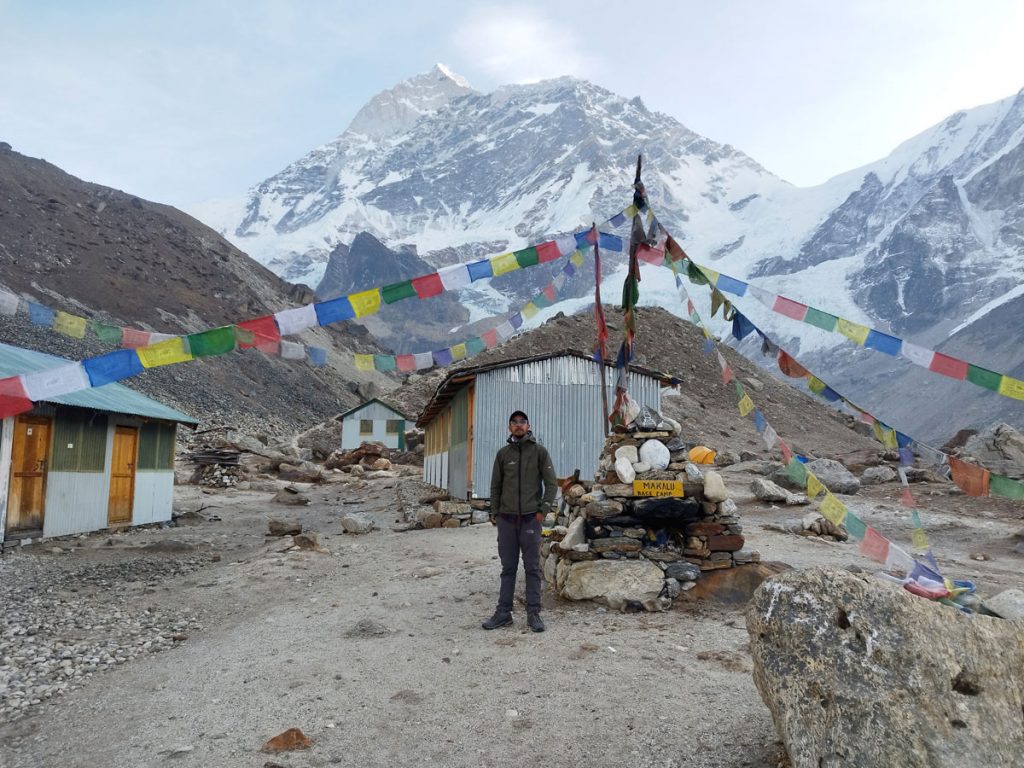
{"label": "man in cap and dark green jacket standing beside cairn", "polygon": [[494,630],[512,624],[512,597],[521,554],[526,571],[526,624],[534,632],[544,632],[541,525],[555,503],[555,467],[548,450],[534,437],[529,419],[522,411],[509,417],[509,432],[508,444],[498,452],[490,470],[490,515],[498,525],[502,586],[495,614],[482,626]]}

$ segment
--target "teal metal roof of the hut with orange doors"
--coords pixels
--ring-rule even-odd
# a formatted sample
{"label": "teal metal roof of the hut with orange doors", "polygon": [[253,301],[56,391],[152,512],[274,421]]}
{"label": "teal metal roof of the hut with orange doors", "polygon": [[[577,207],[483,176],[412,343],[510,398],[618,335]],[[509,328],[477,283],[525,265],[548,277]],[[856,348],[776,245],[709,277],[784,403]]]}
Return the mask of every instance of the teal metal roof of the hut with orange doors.
{"label": "teal metal roof of the hut with orange doors", "polygon": [[[71,361],[52,354],[0,343],[0,378],[45,371]],[[101,387],[83,389],[80,392],[48,398],[46,402],[91,408],[94,411],[109,411],[114,414],[144,416],[148,419],[164,419],[180,424],[199,424],[199,421],[190,416],[185,416],[170,406],[158,402],[121,384],[104,384]]]}

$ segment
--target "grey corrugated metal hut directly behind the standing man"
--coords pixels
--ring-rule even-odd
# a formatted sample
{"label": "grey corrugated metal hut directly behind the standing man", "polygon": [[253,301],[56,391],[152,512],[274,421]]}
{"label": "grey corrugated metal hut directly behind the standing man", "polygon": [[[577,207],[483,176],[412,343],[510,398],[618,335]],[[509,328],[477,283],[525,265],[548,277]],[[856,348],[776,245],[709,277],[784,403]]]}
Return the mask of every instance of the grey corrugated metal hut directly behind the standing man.
{"label": "grey corrugated metal hut directly behind the standing man", "polygon": [[[636,366],[630,371],[630,396],[659,410],[668,377]],[[605,379],[610,407],[615,399],[610,366]],[[559,477],[575,469],[583,477],[594,476],[604,446],[601,369],[589,355],[566,350],[466,368],[444,379],[417,422],[425,431],[424,480],[457,499],[485,499],[513,411],[529,415]]]}

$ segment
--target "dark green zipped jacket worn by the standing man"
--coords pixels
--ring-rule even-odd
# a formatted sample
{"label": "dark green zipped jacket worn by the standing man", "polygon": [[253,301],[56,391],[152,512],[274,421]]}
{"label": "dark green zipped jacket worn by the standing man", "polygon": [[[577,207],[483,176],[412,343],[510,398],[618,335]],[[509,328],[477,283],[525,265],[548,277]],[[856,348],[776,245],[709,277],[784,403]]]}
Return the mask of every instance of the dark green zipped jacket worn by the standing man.
{"label": "dark green zipped jacket worn by the standing man", "polygon": [[[542,494],[543,483],[543,494]],[[547,514],[555,504],[558,480],[548,450],[532,432],[521,440],[509,438],[498,452],[490,470],[492,514]]]}

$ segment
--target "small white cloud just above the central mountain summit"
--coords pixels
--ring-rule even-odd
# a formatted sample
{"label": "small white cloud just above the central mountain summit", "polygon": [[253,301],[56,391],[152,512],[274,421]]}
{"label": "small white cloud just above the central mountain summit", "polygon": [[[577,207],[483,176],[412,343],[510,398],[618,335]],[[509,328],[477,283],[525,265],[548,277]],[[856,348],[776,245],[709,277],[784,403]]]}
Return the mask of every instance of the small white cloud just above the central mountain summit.
{"label": "small white cloud just above the central mountain summit", "polygon": [[573,75],[593,77],[594,59],[574,30],[532,9],[477,8],[452,43],[468,62],[500,83],[532,83]]}

